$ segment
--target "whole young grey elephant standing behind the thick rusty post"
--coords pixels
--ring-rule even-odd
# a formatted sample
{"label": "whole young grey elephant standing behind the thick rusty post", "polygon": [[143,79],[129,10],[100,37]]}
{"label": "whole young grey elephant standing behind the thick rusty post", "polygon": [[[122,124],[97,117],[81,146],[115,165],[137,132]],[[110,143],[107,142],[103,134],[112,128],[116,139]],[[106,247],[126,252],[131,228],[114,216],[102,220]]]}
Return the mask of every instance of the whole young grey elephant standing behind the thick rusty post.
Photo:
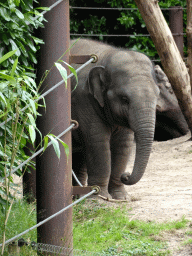
{"label": "whole young grey elephant standing behind the thick rusty post", "polygon": [[[85,184],[98,185],[102,196],[128,199],[123,183],[133,185],[143,176],[154,138],[159,88],[154,67],[142,53],[81,39],[71,54],[96,54],[78,73],[72,93],[73,170]],[[77,68],[77,65],[74,65]],[[72,89],[75,87],[72,79]],[[135,136],[132,174],[124,173]]]}

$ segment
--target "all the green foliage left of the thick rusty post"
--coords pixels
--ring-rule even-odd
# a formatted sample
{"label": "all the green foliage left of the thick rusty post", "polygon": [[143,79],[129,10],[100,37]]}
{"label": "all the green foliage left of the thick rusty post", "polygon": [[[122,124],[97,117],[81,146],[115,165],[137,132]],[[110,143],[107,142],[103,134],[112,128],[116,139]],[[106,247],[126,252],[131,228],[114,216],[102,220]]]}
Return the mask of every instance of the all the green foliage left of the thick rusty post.
{"label": "all the green foliage left of the thick rusty post", "polygon": [[[43,27],[43,16],[33,7],[33,0],[0,2],[0,208],[5,210],[6,197],[11,199],[10,172],[28,156],[24,147],[34,143],[38,88],[33,65],[43,41],[33,36],[34,29]],[[35,1],[37,3],[37,1]],[[23,107],[29,105],[25,111]],[[9,121],[12,118],[12,121]],[[2,125],[3,123],[3,125]],[[32,162],[30,163],[32,165]],[[16,172],[21,175],[21,170]],[[5,176],[9,175],[6,184]],[[6,187],[8,185],[8,187]]]}

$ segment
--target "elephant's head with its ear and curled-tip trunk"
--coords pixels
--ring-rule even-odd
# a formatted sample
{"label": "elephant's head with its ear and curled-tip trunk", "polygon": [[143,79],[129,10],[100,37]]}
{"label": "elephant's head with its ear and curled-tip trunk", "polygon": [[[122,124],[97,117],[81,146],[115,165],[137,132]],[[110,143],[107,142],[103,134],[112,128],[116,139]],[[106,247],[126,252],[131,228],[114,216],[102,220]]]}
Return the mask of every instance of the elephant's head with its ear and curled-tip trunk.
{"label": "elephant's head with its ear and curled-tip trunk", "polygon": [[90,70],[87,89],[105,121],[134,132],[133,171],[121,176],[124,184],[133,185],[144,174],[154,139],[159,95],[154,68],[148,57],[132,51],[117,51],[102,64]]}

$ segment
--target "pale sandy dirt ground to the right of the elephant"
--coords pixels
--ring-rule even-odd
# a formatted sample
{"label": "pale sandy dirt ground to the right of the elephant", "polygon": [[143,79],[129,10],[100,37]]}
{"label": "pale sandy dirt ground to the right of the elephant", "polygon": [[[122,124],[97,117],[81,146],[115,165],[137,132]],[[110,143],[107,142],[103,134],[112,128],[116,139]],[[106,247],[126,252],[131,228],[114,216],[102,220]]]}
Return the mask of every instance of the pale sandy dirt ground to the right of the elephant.
{"label": "pale sandy dirt ground to the right of the elephant", "polygon": [[[145,221],[165,222],[190,220],[192,231],[192,141],[190,134],[164,142],[154,142],[150,160],[143,178],[134,186],[126,186],[132,201],[128,203],[130,218]],[[131,172],[134,152],[127,171]],[[115,207],[115,203],[113,204]],[[165,234],[172,256],[192,255],[192,244],[183,242],[192,239],[186,230]]]}

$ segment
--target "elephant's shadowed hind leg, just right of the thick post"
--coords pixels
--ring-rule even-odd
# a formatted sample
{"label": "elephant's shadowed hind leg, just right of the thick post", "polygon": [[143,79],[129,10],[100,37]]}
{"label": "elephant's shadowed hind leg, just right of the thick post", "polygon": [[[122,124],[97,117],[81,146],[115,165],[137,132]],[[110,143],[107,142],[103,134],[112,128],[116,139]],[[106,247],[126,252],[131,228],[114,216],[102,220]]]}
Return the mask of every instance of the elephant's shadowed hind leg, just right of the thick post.
{"label": "elephant's shadowed hind leg, just right of the thick post", "polygon": [[[80,183],[85,186],[87,183],[87,167],[85,164],[85,152],[73,153],[73,171],[77,176]],[[73,178],[73,186],[77,186],[78,183]]]}

